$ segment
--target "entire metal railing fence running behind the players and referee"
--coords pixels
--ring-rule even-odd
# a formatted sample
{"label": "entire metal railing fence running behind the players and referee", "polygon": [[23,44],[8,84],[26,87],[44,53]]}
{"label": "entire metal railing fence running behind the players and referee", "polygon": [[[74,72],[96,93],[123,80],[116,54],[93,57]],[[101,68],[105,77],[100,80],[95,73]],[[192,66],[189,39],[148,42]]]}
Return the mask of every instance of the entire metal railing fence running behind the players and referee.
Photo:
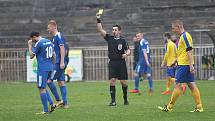
{"label": "entire metal railing fence running behind the players and referee", "polygon": [[[84,48],[83,50],[83,80],[108,80],[107,47]],[[132,49],[133,51],[133,49]],[[163,47],[151,48],[152,76],[154,80],[165,79],[165,69],[160,65],[164,55]],[[214,46],[199,46],[194,48],[197,79],[208,79],[215,75],[214,69],[203,69],[202,56],[214,55]],[[126,60],[129,79],[133,79],[133,52]],[[0,80],[26,80],[26,49],[0,49]]]}

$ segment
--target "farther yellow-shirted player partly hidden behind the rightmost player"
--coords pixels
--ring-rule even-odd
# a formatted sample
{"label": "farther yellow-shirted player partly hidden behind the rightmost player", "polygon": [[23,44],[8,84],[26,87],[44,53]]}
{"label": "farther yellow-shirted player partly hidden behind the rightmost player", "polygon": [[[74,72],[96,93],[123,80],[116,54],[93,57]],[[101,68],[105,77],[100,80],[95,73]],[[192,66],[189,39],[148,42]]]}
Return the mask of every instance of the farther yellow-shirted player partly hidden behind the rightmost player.
{"label": "farther yellow-shirted player partly hidden behind the rightmost player", "polygon": [[[171,94],[170,86],[175,83],[175,71],[176,71],[176,44],[172,41],[170,33],[165,33],[164,38],[166,42],[166,53],[164,55],[163,62],[161,64],[162,68],[166,68],[167,78],[166,78],[166,90],[162,92],[163,95]],[[184,94],[186,90],[186,84],[182,84],[182,92]]]}

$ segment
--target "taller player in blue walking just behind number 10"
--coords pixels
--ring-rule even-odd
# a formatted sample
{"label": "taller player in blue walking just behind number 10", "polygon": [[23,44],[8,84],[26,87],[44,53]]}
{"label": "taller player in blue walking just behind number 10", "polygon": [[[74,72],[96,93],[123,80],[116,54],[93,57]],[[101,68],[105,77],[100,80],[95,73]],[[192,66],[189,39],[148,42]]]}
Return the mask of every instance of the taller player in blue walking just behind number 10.
{"label": "taller player in blue walking just behind number 10", "polygon": [[[67,102],[67,89],[65,84],[65,75],[64,71],[68,64],[68,46],[65,43],[65,39],[62,33],[58,32],[57,23],[55,20],[50,20],[48,22],[48,32],[53,35],[52,42],[54,44],[54,50],[56,53],[56,62],[54,64],[54,71],[50,80],[48,81],[48,86],[52,93],[55,96],[56,101],[58,101],[57,106],[68,108]],[[60,97],[58,95],[57,89],[53,83],[53,80],[58,81],[58,85],[60,87],[62,101],[60,101]]]}

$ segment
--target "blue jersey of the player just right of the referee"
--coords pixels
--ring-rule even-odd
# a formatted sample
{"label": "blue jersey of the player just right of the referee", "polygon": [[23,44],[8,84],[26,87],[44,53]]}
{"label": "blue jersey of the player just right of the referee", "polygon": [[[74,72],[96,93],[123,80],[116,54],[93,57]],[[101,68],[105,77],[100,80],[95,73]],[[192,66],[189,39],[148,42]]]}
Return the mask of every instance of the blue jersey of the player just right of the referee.
{"label": "blue jersey of the player just right of the referee", "polygon": [[142,39],[140,41],[139,59],[138,59],[138,64],[139,65],[146,65],[146,60],[145,60],[145,57],[144,57],[144,52],[147,53],[147,55],[148,55],[148,61],[150,63],[150,48],[149,48],[149,42],[146,39]]}

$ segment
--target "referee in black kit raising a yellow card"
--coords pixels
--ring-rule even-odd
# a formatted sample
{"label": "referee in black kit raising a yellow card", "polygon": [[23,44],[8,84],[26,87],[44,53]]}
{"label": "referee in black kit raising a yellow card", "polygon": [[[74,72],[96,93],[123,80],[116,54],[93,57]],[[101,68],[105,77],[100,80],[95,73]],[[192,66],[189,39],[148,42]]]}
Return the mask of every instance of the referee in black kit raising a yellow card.
{"label": "referee in black kit raising a yellow card", "polygon": [[130,55],[130,49],[128,43],[123,39],[121,34],[121,27],[119,25],[114,25],[112,28],[112,35],[107,34],[107,32],[102,28],[101,24],[101,14],[96,14],[97,18],[97,29],[101,36],[108,43],[108,57],[110,59],[109,67],[109,80],[110,80],[110,95],[111,102],[109,106],[116,106],[115,100],[115,82],[120,80],[123,90],[124,105],[128,105],[127,90],[128,85],[126,80],[128,79],[127,67],[125,58]]}

